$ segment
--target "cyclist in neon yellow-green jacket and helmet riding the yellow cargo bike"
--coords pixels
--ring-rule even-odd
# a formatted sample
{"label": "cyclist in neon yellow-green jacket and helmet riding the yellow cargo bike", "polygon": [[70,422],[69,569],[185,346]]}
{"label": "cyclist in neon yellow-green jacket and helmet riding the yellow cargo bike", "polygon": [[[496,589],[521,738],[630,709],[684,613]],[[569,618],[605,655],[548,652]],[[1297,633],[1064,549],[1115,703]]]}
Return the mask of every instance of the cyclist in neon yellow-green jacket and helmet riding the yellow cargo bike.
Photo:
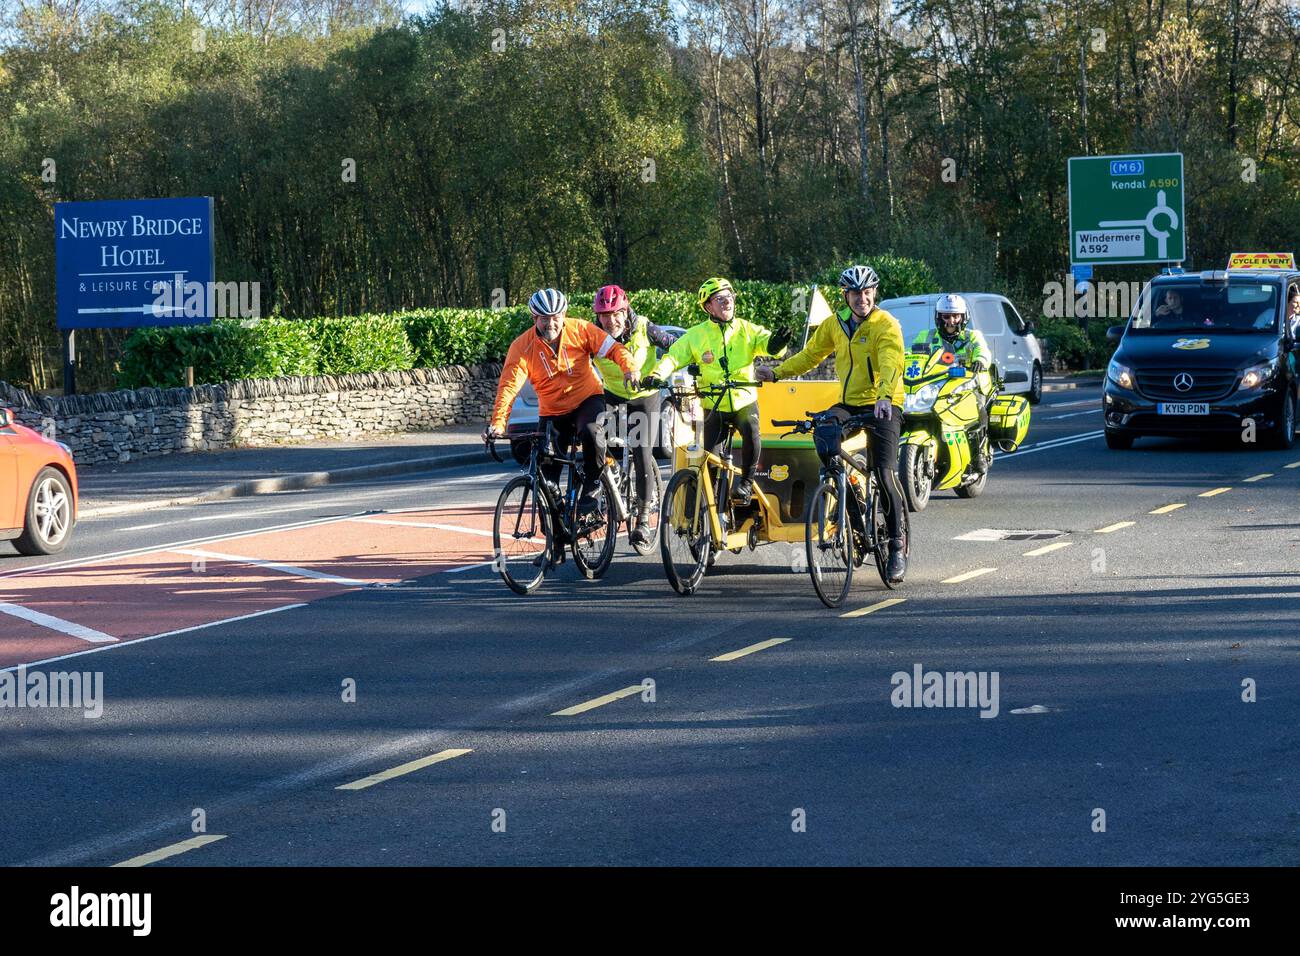
{"label": "cyclist in neon yellow-green jacket and helmet riding the yellow cargo bike", "polygon": [[[754,381],[754,359],[779,355],[785,349],[786,334],[774,333],[762,325],[736,317],[736,293],[725,278],[710,278],[699,286],[699,307],[708,321],[699,323],[673,342],[650,373],[664,380],[682,365],[699,365],[699,384],[716,386],[725,378]],[[715,407],[716,402],[716,407]],[[733,389],[722,397],[705,401],[705,446],[719,453],[723,425],[731,423],[740,432],[741,480],[732,485],[732,498],[754,497],[754,472],[762,451],[758,421],[758,392],[753,386]]]}

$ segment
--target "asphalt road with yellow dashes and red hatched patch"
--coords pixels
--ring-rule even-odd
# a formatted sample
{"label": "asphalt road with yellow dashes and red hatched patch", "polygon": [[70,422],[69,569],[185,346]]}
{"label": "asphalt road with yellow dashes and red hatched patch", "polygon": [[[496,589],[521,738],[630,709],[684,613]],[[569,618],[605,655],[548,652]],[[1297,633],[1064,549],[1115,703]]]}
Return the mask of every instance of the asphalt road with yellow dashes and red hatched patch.
{"label": "asphalt road with yellow dashes and red hatched patch", "polygon": [[[1295,865],[1300,451],[1100,418],[1048,395],[841,611],[783,545],[690,598],[625,544],[516,597],[488,463],[86,522],[0,559],[66,626],[0,615],[0,669],[103,674],[99,718],[0,709],[0,862]],[[894,706],[916,666],[996,715]]]}

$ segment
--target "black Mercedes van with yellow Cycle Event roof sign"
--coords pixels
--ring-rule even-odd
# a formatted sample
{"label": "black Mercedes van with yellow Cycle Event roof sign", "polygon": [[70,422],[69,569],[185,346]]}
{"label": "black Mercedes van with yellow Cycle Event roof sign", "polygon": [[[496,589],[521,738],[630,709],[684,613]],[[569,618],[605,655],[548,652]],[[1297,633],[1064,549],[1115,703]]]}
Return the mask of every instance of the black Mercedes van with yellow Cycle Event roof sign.
{"label": "black Mercedes van with yellow Cycle Event roof sign", "polygon": [[1141,436],[1240,434],[1288,449],[1296,432],[1296,269],[1166,273],[1139,297],[1102,394],[1106,445]]}

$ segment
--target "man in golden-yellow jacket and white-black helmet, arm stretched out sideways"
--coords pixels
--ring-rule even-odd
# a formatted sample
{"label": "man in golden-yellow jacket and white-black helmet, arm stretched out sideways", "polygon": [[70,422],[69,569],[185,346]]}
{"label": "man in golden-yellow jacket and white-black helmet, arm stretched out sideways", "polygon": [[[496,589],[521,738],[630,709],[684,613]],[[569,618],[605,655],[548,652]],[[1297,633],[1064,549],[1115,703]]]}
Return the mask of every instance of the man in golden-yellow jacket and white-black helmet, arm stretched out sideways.
{"label": "man in golden-yellow jacket and white-black helmet, arm stretched out sideways", "polygon": [[841,419],[875,415],[867,431],[876,479],[888,501],[890,581],[907,571],[902,538],[902,488],[898,484],[898,437],[902,431],[902,329],[889,312],[876,308],[880,277],[870,265],[850,265],[840,273],[845,308],[818,325],[803,351],[780,365],[759,368],[760,381],[779,381],[816,368],[835,352],[840,401],[831,406]]}

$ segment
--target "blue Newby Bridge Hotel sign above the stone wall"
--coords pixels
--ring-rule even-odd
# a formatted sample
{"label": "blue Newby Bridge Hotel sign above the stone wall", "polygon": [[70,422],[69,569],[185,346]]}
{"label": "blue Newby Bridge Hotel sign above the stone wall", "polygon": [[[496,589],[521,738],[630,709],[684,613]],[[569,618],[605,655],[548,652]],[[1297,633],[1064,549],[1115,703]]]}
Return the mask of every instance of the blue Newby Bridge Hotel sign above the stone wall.
{"label": "blue Newby Bridge Hotel sign above the stone wall", "polygon": [[60,329],[207,323],[205,303],[194,315],[181,297],[159,304],[159,293],[212,278],[211,196],[55,203]]}

